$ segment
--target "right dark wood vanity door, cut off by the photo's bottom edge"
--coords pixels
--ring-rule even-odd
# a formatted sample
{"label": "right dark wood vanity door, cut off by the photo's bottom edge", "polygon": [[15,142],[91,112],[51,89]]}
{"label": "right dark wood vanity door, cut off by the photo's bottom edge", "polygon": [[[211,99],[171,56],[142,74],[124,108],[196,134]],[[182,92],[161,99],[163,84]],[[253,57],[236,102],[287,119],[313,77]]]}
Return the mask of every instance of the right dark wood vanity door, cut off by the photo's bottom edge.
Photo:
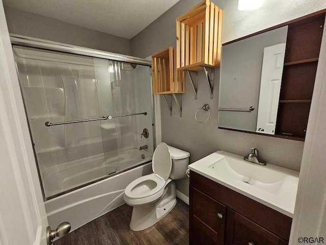
{"label": "right dark wood vanity door, cut off by the photo's bottom edge", "polygon": [[228,208],[226,245],[286,245],[288,242]]}

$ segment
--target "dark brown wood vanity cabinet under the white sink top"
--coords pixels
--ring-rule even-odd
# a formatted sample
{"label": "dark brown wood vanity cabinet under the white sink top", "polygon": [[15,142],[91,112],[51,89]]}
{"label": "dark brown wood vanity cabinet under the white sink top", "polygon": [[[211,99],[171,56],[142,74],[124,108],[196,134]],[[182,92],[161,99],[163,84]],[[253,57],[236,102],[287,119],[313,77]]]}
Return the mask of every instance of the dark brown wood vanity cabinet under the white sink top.
{"label": "dark brown wood vanity cabinet under the white sink top", "polygon": [[190,171],[189,243],[288,244],[292,218]]}

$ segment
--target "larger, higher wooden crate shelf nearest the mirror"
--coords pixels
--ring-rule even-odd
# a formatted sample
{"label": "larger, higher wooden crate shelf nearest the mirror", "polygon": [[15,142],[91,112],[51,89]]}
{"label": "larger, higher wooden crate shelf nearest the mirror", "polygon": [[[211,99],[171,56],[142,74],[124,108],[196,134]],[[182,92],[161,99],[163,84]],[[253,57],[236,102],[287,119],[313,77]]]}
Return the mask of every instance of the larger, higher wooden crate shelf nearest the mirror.
{"label": "larger, higher wooden crate shelf nearest the mirror", "polygon": [[178,70],[220,66],[222,10],[205,0],[176,20]]}

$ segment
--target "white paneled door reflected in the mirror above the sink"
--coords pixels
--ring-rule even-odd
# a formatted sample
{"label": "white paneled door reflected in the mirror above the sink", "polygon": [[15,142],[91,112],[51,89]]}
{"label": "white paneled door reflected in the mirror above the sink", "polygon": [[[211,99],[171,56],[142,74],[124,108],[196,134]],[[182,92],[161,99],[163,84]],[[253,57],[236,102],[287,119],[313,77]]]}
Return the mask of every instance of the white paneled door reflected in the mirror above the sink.
{"label": "white paneled door reflected in the mirror above the sink", "polygon": [[275,134],[285,43],[264,48],[256,132]]}

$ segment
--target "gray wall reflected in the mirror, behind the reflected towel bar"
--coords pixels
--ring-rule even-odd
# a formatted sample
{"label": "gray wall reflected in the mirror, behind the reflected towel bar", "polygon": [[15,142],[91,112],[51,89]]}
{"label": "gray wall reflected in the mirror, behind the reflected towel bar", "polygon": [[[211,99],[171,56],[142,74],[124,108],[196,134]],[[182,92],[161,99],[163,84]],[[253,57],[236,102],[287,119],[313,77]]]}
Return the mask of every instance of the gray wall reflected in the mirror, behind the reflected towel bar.
{"label": "gray wall reflected in the mirror, behind the reflected towel bar", "polygon": [[264,48],[286,43],[288,26],[222,47],[220,107],[255,107],[252,112],[220,111],[219,127],[256,132]]}

